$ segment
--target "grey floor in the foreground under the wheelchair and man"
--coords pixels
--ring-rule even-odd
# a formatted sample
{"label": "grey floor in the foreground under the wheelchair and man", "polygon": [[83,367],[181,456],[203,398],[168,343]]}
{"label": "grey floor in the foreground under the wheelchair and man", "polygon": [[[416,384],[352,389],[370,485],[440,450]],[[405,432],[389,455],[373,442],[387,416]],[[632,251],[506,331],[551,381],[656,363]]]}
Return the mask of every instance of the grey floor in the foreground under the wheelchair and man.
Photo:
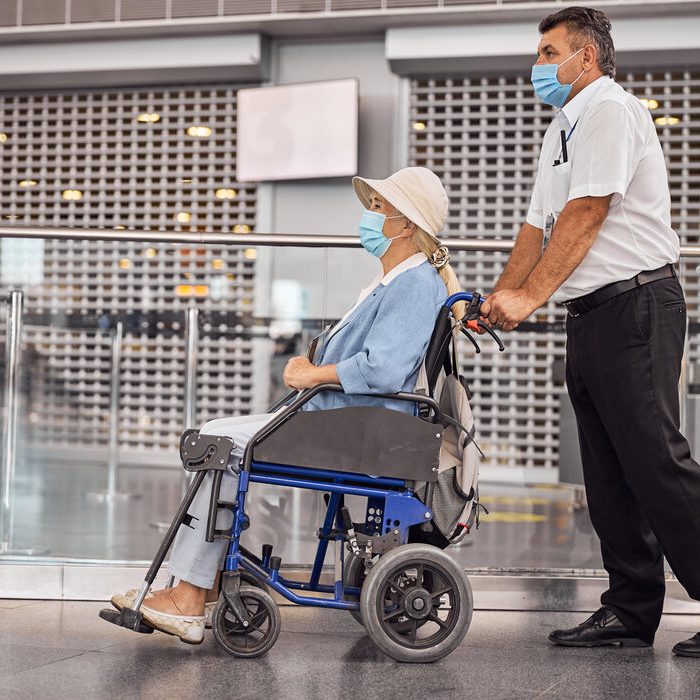
{"label": "grey floor in the foreground under the wheelchair and man", "polygon": [[210,632],[191,647],[114,627],[97,617],[103,605],[0,600],[0,698],[700,697],[700,659],[671,654],[700,616],[666,616],[650,649],[565,649],[546,636],[581,614],[476,611],[456,651],[412,665],[385,657],[343,612],[284,606],[277,644],[241,660]]}

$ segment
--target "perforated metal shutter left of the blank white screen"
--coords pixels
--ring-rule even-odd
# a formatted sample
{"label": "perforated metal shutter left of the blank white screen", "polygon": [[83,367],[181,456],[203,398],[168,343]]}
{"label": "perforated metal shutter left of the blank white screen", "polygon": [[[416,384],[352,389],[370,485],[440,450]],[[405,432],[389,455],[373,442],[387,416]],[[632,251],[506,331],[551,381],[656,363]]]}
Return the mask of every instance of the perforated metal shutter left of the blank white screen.
{"label": "perforated metal shutter left of the blank white screen", "polygon": [[[0,134],[4,223],[254,230],[256,188],[233,179],[234,86],[1,94]],[[12,244],[3,242],[5,256]],[[172,449],[183,428],[183,324],[193,304],[202,313],[199,412],[250,412],[244,321],[255,249],[47,241],[35,254],[43,279],[25,286],[23,406],[32,444],[106,442],[108,331],[119,318],[121,444]]]}

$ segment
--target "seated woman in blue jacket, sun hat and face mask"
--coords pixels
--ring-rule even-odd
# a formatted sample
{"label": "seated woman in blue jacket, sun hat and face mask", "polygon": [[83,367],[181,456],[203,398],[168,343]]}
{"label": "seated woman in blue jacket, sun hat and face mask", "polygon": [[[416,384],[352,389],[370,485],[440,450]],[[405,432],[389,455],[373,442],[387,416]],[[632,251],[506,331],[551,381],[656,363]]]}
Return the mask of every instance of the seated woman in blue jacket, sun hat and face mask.
{"label": "seated woman in blue jacket, sun hat and face mask", "polygon": [[[323,383],[340,384],[344,392],[323,392],[306,410],[348,405],[381,405],[411,411],[407,402],[368,397],[368,394],[413,391],[440,305],[459,290],[449,266],[447,249],[437,234],[447,216],[448,200],[439,178],[427,168],[404,168],[386,180],[356,177],[355,191],[365,207],[360,240],[379,258],[381,271],[360,292],[355,306],[330,331],[316,364],[293,357],[284,382],[293,389]],[[271,414],[221,418],[201,432],[231,437],[234,455],[243,456],[248,440],[271,419]],[[174,588],[154,592],[141,611],[154,628],[198,644],[204,636],[205,605],[216,598],[213,589],[227,542],[205,541],[211,474],[202,484],[173,545],[169,570],[179,580]],[[237,477],[227,473],[222,497],[235,498]],[[220,513],[218,527],[227,527]],[[230,527],[230,525],[228,525]],[[116,595],[117,608],[133,604],[134,592]]]}

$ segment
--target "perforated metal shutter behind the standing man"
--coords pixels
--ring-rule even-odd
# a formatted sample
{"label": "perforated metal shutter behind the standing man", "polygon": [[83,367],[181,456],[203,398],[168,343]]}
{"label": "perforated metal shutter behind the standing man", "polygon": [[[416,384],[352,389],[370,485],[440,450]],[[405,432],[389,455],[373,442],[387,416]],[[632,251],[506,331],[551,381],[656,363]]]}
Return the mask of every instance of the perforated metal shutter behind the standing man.
{"label": "perforated metal shutter behind the standing man", "polygon": [[[618,80],[649,107],[666,154],[673,225],[683,243],[698,242],[700,223],[700,72],[618,71]],[[450,195],[450,236],[513,238],[525,219],[550,108],[534,97],[527,75],[435,77],[411,81],[410,162],[433,168]],[[676,121],[677,120],[677,121]],[[507,256],[461,253],[456,270],[467,289],[489,292]],[[453,258],[453,259],[454,259]],[[684,263],[691,329],[697,322],[696,263]],[[550,304],[539,325],[507,336],[508,352],[465,344],[467,375],[481,440],[491,466],[558,466],[564,318]],[[700,342],[691,333],[689,359]]]}

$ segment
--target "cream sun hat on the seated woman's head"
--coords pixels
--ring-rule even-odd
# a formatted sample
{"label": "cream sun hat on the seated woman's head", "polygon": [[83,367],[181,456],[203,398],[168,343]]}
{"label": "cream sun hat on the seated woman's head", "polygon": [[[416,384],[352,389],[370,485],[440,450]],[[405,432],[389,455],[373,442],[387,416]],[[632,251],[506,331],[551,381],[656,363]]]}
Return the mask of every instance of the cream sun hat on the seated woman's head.
{"label": "cream sun hat on the seated woman's head", "polygon": [[354,177],[353,187],[365,209],[372,192],[392,204],[439,245],[438,234],[447,219],[447,192],[440,178],[428,168],[403,168],[385,180]]}

